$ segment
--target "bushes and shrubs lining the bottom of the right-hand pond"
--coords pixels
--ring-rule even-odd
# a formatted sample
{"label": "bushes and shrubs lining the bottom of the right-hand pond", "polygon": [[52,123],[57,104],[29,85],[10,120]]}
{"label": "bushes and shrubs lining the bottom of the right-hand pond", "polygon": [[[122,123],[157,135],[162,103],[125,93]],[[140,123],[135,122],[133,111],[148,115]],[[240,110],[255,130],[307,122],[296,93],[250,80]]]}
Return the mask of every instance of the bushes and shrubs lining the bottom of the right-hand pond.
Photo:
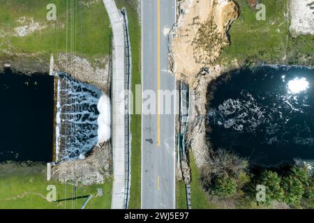
{"label": "bushes and shrubs lining the bottom of the right-hand pond", "polygon": [[227,151],[212,153],[201,172],[209,201],[221,208],[313,208],[314,176],[304,165],[249,167]]}

